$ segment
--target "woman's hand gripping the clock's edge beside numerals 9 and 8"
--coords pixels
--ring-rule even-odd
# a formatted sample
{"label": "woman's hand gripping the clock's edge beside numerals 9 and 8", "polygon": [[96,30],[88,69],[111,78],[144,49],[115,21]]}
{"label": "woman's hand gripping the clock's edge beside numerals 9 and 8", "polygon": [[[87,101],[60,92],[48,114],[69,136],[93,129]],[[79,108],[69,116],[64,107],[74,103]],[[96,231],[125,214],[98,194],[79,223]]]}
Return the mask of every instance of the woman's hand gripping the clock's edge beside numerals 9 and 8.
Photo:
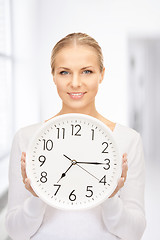
{"label": "woman's hand gripping the clock's edge beside numerals 9 and 8", "polygon": [[33,191],[31,185],[30,185],[30,180],[27,178],[26,174],[26,153],[22,152],[21,155],[21,174],[23,178],[23,183],[25,185],[25,188],[32,193],[33,196],[38,197],[37,194]]}

